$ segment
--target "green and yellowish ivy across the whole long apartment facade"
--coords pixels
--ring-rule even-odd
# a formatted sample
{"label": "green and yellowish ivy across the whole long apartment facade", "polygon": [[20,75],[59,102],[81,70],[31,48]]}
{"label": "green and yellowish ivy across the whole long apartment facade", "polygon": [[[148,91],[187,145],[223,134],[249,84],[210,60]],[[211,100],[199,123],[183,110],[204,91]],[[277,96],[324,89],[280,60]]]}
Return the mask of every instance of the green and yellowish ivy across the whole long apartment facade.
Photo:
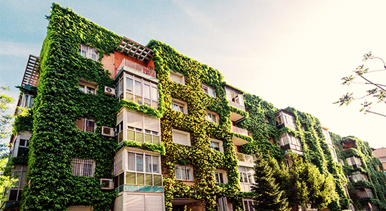
{"label": "green and yellowish ivy across the whole long apartment facade", "polygon": [[[347,183],[343,173],[346,169],[342,170],[342,165],[333,161],[317,118],[295,108],[286,108],[293,113],[296,129],[277,129],[274,117],[277,108],[272,103],[252,94],[244,94],[248,113],[229,106],[222,89],[226,83],[218,70],[154,40],[149,41],[147,47],[153,49],[155,55],[153,61],[159,79],[159,109],[138,106],[125,100],[117,103],[114,97],[103,93],[105,86],[115,87],[116,82],[100,62],[81,56],[79,45],[82,43],[98,49],[101,60],[103,56],[114,53],[121,37],[58,4],[53,4],[48,20],[47,37],[40,55],[41,72],[34,108],[31,115],[20,117],[15,123],[18,132],[23,126],[32,129],[30,123],[33,120],[27,174],[30,183],[24,188],[22,210],[66,210],[72,205],[91,205],[94,210],[113,208],[116,194],[114,191],[101,190],[100,178],[113,177],[114,153],[121,146],[117,146],[114,139],[101,136],[100,129],[102,126],[115,126],[116,115],[121,107],[161,118],[161,145],[137,144],[126,140],[122,146],[161,153],[166,210],[172,210],[173,198],[204,199],[206,209],[215,210],[216,200],[221,197],[227,197],[233,203],[234,210],[242,210],[241,198],[251,193],[240,192],[237,159],[232,143],[232,137],[237,134],[232,132],[229,120],[231,112],[246,117],[237,126],[252,132],[253,136],[243,136],[249,143],[241,146],[241,153],[253,155],[259,149],[266,158],[272,156],[283,162],[284,152],[277,146],[277,141],[286,132],[297,137],[302,144],[305,160],[314,163],[322,174],[332,174],[335,179],[335,191],[340,200],[333,201],[329,208],[334,211],[348,208],[349,200],[342,189],[342,184]],[[185,84],[171,81],[171,70],[184,75]],[[97,94],[79,91],[79,78],[98,83]],[[204,94],[202,83],[215,89],[215,98]],[[171,109],[173,98],[187,103],[187,114]],[[219,115],[218,124],[206,120],[206,110]],[[95,133],[76,129],[78,117],[95,120],[98,126]],[[189,132],[192,146],[173,143],[172,129]],[[222,141],[224,153],[209,147],[211,138]],[[73,176],[72,158],[95,160],[94,177]],[[194,185],[175,179],[176,164],[194,168]],[[216,168],[227,171],[227,184],[215,183],[213,172]],[[381,188],[380,193],[385,193],[381,180],[378,184],[374,188]]]}

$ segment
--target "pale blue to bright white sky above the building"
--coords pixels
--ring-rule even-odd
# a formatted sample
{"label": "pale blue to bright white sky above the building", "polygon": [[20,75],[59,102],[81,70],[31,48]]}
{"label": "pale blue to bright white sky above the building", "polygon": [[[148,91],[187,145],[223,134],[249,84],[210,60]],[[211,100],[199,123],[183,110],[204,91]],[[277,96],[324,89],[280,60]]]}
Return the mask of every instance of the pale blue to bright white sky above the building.
{"label": "pale blue to bright white sky above the building", "polygon": [[[218,69],[228,84],[317,117],[330,132],[386,147],[386,117],[360,113],[363,100],[333,105],[368,84],[342,85],[359,65],[382,70],[386,60],[385,1],[62,1],[79,15],[146,45],[162,41]],[[29,54],[39,56],[52,1],[0,1],[0,86],[18,97]],[[386,84],[385,72],[369,79]],[[15,106],[11,106],[14,109]],[[386,115],[386,105],[373,111]]]}

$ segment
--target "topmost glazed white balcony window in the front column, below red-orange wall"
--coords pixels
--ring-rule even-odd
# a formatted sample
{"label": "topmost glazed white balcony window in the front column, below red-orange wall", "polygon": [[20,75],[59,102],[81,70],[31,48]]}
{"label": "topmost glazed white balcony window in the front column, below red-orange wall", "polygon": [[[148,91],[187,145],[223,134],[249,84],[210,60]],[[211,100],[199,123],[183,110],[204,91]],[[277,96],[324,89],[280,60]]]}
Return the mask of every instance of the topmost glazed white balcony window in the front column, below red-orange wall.
{"label": "topmost glazed white balcony window in the front column, below red-orange wall", "polygon": [[[124,96],[125,94],[125,96]],[[134,101],[139,105],[158,108],[158,85],[131,74],[124,74],[117,84],[117,97]]]}

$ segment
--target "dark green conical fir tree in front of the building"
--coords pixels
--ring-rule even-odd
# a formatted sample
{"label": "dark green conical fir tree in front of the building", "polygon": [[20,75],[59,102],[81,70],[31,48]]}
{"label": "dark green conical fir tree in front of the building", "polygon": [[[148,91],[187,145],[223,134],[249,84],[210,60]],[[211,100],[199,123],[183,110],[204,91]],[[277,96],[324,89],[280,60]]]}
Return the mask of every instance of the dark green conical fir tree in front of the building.
{"label": "dark green conical fir tree in front of the building", "polygon": [[[280,191],[279,184],[273,177],[272,168],[262,155],[256,153],[255,184],[252,191],[255,193],[253,207],[258,211],[288,211],[288,201],[284,197],[284,191]],[[273,159],[273,158],[271,158]]]}

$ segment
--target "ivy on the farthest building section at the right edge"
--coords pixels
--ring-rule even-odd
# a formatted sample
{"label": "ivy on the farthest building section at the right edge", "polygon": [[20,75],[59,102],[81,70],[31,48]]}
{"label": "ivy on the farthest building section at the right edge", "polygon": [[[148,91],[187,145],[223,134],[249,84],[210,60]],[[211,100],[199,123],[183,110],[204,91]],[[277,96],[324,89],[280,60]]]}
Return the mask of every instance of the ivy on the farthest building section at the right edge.
{"label": "ivy on the farthest building section at the right edge", "polygon": [[[382,163],[375,158],[368,142],[361,141],[354,136],[342,137],[338,134],[331,133],[331,139],[337,148],[338,159],[345,162],[343,171],[347,176],[352,172],[362,172],[366,174],[368,181],[350,181],[347,185],[349,188],[350,198],[353,201],[356,210],[361,210],[362,206],[368,207],[368,203],[375,205],[381,210],[386,210],[386,177],[383,173]],[[354,143],[352,148],[343,149],[342,143]],[[346,158],[355,156],[361,159],[362,167],[352,169],[348,165]],[[355,188],[371,188],[374,198],[360,199]]]}

